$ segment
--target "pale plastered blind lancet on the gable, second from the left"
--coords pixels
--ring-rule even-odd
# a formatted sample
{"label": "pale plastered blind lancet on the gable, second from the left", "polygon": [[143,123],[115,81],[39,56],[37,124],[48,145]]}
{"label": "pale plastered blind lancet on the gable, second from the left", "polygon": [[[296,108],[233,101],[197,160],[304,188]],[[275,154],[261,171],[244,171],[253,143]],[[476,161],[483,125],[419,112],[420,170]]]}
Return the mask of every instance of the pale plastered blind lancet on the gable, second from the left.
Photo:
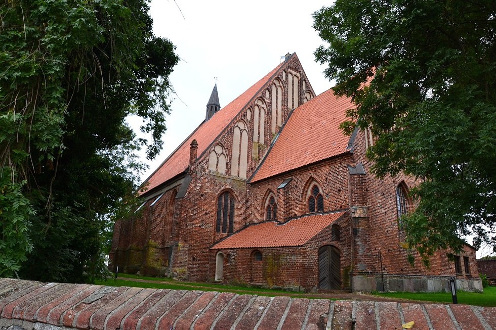
{"label": "pale plastered blind lancet on the gable, second from the left", "polygon": [[246,178],[248,153],[248,131],[244,122],[234,126],[232,136],[231,176]]}

